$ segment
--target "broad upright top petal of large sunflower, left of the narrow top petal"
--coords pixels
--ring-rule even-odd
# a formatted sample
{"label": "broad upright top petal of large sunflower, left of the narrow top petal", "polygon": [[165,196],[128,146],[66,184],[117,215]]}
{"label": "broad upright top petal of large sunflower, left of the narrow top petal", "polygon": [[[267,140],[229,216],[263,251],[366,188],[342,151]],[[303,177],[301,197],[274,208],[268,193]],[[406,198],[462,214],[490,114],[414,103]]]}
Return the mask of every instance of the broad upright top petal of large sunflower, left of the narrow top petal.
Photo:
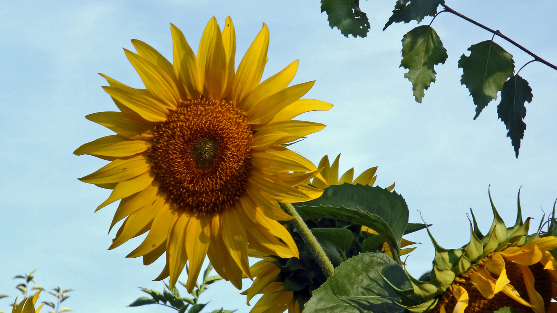
{"label": "broad upright top petal of large sunflower, left of the narrow top petal", "polygon": [[[216,18],[213,17],[211,21],[209,21],[205,32],[203,32],[203,36],[206,35],[206,32],[208,32],[207,39],[210,39],[208,39],[209,41],[207,42],[207,50],[203,51],[203,53],[206,53],[205,67],[200,67],[200,69],[205,70],[207,95],[215,100],[222,100],[226,96],[224,92],[227,88],[226,81],[228,79],[228,74],[221,29],[218,27]],[[203,40],[204,38],[202,38],[202,43],[204,43]]]}

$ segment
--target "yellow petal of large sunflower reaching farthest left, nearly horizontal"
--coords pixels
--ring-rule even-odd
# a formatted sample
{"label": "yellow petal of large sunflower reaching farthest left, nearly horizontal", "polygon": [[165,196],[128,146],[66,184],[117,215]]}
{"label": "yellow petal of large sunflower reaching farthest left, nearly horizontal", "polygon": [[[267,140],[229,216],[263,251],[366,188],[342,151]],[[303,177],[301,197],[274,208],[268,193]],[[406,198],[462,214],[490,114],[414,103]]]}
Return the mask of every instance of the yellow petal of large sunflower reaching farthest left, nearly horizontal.
{"label": "yellow petal of large sunflower reaching farthest left, nearly horizontal", "polygon": [[150,141],[128,140],[120,135],[105,136],[81,145],[75,155],[130,156],[141,153],[151,146]]}

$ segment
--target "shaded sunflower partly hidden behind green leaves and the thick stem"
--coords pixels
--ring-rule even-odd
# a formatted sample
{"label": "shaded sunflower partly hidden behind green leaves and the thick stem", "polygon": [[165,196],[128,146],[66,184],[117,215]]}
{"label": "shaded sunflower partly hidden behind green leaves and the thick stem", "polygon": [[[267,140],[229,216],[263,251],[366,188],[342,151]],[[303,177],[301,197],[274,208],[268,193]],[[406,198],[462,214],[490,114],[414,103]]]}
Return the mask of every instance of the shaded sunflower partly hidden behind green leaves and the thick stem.
{"label": "shaded sunflower partly hidden behind green leaves and the thick stem", "polygon": [[[375,176],[377,167],[365,170],[354,180],[354,168],[351,168],[339,179],[339,159],[340,154],[336,156],[333,165],[330,165],[328,156],[323,156],[318,166],[321,169],[321,176],[315,177],[311,185],[321,189],[329,187],[330,185],[343,183],[373,185],[377,178],[377,176]],[[390,185],[387,189],[392,191],[393,188],[394,184]],[[306,222],[308,222],[308,225],[312,228],[341,227],[339,223],[344,221],[336,221],[334,225],[329,225],[329,222],[331,222],[329,219],[320,219],[319,222],[314,220]],[[348,222],[345,222],[345,225],[343,224],[343,226],[346,227],[349,225],[350,223]],[[256,280],[250,288],[242,292],[243,295],[247,296],[248,305],[253,296],[263,294],[261,299],[253,306],[250,313],[282,313],[286,309],[288,309],[289,313],[299,313],[303,310],[305,302],[310,299],[312,291],[319,288],[327,280],[319,263],[317,263],[312,253],[307,250],[307,246],[299,234],[294,232],[288,225],[287,228],[289,228],[289,231],[292,233],[298,245],[300,251],[299,258],[283,258],[276,255],[266,255],[265,253],[257,251],[252,251],[250,254],[253,257],[263,258],[263,260],[251,267],[253,276],[257,277]],[[361,228],[356,227],[355,231],[377,234],[373,229],[369,229],[365,226],[361,226]],[[364,236],[363,238],[368,237]],[[416,242],[402,239],[402,243],[409,245]],[[321,244],[323,245],[324,243],[321,242]],[[387,251],[385,251],[385,246],[387,247]],[[414,250],[414,248],[403,249],[401,252],[409,253],[412,250]],[[390,253],[388,244],[383,244],[383,251],[385,253]],[[353,253],[346,253],[346,257],[357,255],[361,250],[354,249],[351,252]],[[328,256],[334,266],[338,266],[340,262],[344,261],[335,261],[330,252]],[[390,256],[392,257],[392,255]]]}

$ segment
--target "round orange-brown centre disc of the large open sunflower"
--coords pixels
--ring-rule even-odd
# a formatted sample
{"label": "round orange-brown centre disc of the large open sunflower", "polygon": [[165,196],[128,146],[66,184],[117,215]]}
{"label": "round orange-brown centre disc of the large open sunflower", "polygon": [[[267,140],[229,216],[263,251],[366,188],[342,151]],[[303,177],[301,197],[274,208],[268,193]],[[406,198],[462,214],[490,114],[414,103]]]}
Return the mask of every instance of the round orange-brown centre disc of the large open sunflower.
{"label": "round orange-brown centre disc of the large open sunflower", "polygon": [[180,209],[220,212],[245,192],[253,132],[231,102],[182,102],[155,133],[152,169]]}

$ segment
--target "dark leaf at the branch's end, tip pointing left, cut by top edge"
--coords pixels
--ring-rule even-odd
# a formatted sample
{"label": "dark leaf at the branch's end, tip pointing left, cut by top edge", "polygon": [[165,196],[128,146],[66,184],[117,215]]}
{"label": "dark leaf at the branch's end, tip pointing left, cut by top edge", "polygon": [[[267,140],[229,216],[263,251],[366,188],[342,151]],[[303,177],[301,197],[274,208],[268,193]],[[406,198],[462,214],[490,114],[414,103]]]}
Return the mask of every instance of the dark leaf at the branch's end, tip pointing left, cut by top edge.
{"label": "dark leaf at the branch's end, tip pointing left, cut by top edge", "polygon": [[419,23],[426,16],[435,16],[440,4],[445,4],[444,0],[398,0],[394,5],[393,15],[389,17],[383,30],[394,22],[408,23],[415,20]]}

